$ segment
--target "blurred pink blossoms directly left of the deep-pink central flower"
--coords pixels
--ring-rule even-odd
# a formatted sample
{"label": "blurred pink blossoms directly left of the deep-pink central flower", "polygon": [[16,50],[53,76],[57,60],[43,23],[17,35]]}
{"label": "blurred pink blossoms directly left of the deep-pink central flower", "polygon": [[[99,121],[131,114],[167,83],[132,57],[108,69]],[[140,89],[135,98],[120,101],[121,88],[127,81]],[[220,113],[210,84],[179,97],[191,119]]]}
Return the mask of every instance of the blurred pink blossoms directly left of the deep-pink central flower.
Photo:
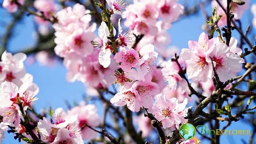
{"label": "blurred pink blossoms directly left of the deep-pink central flower", "polygon": [[76,57],[64,59],[64,65],[68,69],[67,80],[69,82],[79,80],[95,88],[98,86],[106,88],[111,84],[114,80],[111,76],[114,76],[117,64],[111,58],[109,67],[103,68],[99,64],[98,55],[99,50],[94,50],[92,54],[79,60]]}

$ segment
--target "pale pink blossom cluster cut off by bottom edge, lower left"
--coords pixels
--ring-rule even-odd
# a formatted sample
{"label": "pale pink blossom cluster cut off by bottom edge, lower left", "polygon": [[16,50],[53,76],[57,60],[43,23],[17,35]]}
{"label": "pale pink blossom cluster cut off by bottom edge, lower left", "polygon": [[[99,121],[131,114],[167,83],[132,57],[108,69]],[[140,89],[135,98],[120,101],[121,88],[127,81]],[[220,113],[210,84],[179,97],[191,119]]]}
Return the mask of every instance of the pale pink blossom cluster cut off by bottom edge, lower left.
{"label": "pale pink blossom cluster cut off by bottom edge, lower left", "polygon": [[94,105],[73,107],[66,113],[62,108],[55,110],[50,122],[45,117],[38,121],[38,131],[41,140],[49,144],[70,143],[83,144],[83,140],[91,140],[97,137],[97,132],[88,128],[98,126],[100,117]]}

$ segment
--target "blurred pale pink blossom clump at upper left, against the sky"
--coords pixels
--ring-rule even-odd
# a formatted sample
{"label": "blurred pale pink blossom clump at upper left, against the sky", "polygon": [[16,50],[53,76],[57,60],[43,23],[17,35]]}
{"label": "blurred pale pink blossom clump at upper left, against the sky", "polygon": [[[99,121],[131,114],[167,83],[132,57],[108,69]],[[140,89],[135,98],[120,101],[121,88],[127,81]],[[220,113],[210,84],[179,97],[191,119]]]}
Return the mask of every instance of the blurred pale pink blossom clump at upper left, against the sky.
{"label": "blurred pale pink blossom clump at upper left, against the sky", "polygon": [[57,44],[54,51],[61,57],[84,57],[92,53],[93,31],[96,25],[90,25],[91,15],[81,4],[73,8],[67,7],[56,13],[57,23],[53,24],[56,30],[54,42]]}

